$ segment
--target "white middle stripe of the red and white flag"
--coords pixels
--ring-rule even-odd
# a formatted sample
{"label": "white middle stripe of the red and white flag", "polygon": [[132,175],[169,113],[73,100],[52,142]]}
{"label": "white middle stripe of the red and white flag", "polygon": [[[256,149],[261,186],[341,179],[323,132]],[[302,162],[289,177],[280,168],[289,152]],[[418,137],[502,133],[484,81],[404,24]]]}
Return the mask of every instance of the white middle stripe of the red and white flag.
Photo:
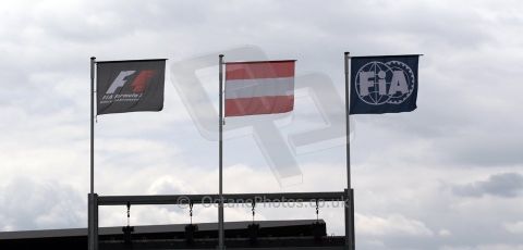
{"label": "white middle stripe of the red and white flag", "polygon": [[294,77],[226,80],[226,99],[291,96]]}

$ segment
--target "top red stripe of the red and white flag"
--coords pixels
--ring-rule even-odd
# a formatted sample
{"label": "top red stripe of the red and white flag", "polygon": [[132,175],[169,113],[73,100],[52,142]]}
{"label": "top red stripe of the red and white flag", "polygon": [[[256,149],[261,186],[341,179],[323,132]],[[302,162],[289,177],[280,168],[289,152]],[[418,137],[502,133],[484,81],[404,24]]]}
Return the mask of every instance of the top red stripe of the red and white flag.
{"label": "top red stripe of the red and white flag", "polygon": [[242,62],[226,64],[226,80],[293,77],[294,61]]}

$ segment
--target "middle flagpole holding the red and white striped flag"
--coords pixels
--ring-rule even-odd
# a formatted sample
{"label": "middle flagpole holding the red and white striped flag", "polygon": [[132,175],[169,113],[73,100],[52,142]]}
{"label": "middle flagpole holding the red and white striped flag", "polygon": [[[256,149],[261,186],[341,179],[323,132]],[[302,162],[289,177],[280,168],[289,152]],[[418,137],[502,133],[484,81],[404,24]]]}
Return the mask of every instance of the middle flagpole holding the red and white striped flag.
{"label": "middle flagpole holding the red and white striped flag", "polygon": [[223,134],[223,54],[219,55],[219,77],[220,77],[220,107],[219,107],[219,196],[220,202],[218,205],[218,249],[223,248],[223,238],[224,238],[224,230],[223,230],[223,141],[222,141],[222,134]]}

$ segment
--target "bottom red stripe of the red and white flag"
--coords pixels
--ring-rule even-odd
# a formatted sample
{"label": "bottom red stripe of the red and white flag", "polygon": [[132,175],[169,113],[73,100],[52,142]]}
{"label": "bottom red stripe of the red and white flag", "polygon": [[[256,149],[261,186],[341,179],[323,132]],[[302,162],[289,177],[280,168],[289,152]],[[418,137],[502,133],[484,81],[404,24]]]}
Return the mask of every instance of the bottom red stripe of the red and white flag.
{"label": "bottom red stripe of the red and white flag", "polygon": [[285,113],[293,108],[294,96],[226,99],[226,116]]}

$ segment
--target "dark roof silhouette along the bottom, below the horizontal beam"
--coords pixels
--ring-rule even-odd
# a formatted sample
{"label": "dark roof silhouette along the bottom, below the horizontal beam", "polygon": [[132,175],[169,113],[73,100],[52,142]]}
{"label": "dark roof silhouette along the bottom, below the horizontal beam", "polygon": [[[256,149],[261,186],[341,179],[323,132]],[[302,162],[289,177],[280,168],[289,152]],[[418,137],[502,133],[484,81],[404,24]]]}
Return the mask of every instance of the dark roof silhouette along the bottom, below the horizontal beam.
{"label": "dark roof silhouette along the bottom, below the horizontal beam", "polygon": [[[327,236],[323,220],[228,222],[228,249],[343,249],[343,236]],[[217,223],[100,227],[100,249],[215,249]],[[0,233],[0,249],[87,249],[87,229]]]}

